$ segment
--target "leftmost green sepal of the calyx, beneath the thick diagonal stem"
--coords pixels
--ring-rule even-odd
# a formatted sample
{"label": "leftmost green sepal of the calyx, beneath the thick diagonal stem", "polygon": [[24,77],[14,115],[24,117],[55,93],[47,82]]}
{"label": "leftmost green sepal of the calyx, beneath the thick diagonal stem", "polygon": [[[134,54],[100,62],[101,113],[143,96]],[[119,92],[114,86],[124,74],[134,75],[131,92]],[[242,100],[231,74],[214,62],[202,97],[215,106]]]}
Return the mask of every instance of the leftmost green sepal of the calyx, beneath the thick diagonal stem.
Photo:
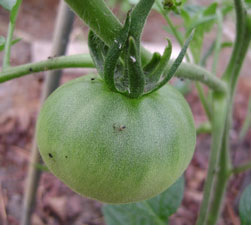
{"label": "leftmost green sepal of the calyx, beneath the thick diagonal stem", "polygon": [[99,75],[104,78],[104,63],[108,46],[92,30],[88,35],[88,46],[95,67]]}

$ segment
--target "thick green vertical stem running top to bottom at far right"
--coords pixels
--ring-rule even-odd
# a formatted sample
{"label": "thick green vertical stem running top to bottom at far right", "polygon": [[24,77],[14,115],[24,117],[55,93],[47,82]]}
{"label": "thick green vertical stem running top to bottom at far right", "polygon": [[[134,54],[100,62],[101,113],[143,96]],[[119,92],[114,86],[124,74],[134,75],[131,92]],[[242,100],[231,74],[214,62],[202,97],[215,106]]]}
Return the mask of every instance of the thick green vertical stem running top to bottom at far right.
{"label": "thick green vertical stem running top to bottom at far right", "polygon": [[[227,104],[218,106],[220,109],[225,108],[226,113],[225,115],[221,113],[213,114],[213,120],[215,118],[221,118],[221,115],[224,115],[222,121],[219,121],[219,124],[223,123],[222,127],[224,128],[224,135],[219,135],[218,137],[215,136],[215,134],[222,130],[222,127],[217,128],[217,124],[213,123],[213,144],[210,162],[212,160],[212,156],[214,155],[213,153],[216,152],[218,152],[217,155],[219,155],[219,160],[212,165],[209,164],[209,172],[205,183],[205,193],[197,225],[216,224],[227,187],[229,178],[228,173],[231,171],[230,167],[232,166],[229,158],[229,131],[232,126],[233,96],[251,38],[251,24],[248,18],[250,14],[248,14],[245,9],[244,1],[234,0],[234,4],[236,12],[236,40],[228,67],[223,75],[223,79],[228,85],[229,93],[228,96],[226,96]],[[214,102],[218,100],[218,98],[213,99]],[[221,142],[222,146],[220,146],[220,148],[218,146],[216,149],[214,147],[214,140]],[[214,171],[214,173],[210,174],[210,171]],[[206,190],[210,190],[209,196]]]}

